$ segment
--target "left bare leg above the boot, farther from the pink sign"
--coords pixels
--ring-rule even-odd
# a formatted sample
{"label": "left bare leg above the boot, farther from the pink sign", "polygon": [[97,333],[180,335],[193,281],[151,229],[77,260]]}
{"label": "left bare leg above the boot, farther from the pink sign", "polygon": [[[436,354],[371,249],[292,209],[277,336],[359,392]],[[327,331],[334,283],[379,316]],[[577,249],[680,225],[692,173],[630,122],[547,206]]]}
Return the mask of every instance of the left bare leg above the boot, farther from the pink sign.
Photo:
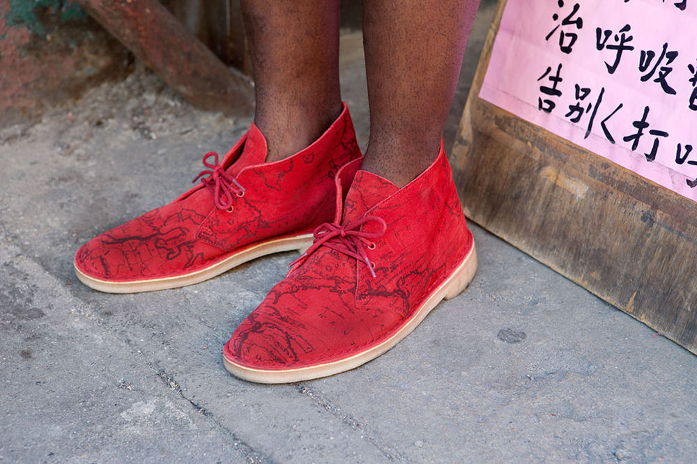
{"label": "left bare leg above the boot, farther from the pink sign", "polygon": [[339,0],[242,0],[268,161],[312,144],[341,113]]}

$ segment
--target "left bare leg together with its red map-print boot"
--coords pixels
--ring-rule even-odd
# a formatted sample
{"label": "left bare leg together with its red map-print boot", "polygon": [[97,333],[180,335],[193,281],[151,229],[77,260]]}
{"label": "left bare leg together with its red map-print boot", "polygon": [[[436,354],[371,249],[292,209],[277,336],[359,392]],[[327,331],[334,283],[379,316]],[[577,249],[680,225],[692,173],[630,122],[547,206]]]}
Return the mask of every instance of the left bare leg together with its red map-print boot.
{"label": "left bare leg together with its red map-print boot", "polygon": [[222,160],[208,153],[208,169],[178,199],[81,247],[75,271],[87,286],[133,293],[195,284],[305,248],[334,217],[334,175],[360,157],[338,91],[338,0],[243,3],[259,125]]}

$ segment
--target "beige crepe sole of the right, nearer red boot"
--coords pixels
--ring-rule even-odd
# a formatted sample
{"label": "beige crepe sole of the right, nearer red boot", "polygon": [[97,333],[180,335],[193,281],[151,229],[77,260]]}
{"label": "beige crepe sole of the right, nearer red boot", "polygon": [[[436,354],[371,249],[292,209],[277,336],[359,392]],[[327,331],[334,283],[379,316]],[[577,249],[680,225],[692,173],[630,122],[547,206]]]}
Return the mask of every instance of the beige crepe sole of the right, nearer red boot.
{"label": "beige crepe sole of the right, nearer red boot", "polygon": [[252,369],[246,366],[240,366],[235,362],[227,359],[223,355],[225,369],[233,376],[250,380],[259,383],[289,383],[299,382],[300,380],[312,380],[314,378],[332,376],[335,373],[348,371],[355,367],[365,364],[366,362],[375,359],[388,351],[393,346],[397,345],[402,339],[419,325],[422,320],[431,312],[441,300],[452,300],[463,291],[477,271],[477,252],[475,251],[474,243],[472,249],[465,256],[462,263],[454,270],[454,272],[445,279],[443,284],[438,286],[436,290],[424,301],[421,307],[416,311],[411,320],[401,327],[401,329],[392,335],[389,339],[383,341],[379,345],[373,346],[368,350],[358,353],[346,359],[318,364],[316,366],[300,367],[298,369],[275,369],[263,370]]}

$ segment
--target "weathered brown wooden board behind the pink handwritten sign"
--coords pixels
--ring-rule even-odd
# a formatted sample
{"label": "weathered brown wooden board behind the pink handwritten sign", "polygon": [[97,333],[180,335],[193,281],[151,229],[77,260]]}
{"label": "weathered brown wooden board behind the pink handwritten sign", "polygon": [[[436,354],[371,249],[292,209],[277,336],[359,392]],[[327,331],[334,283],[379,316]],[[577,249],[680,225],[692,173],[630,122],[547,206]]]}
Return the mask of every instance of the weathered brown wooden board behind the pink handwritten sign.
{"label": "weathered brown wooden board behind the pink handwritten sign", "polygon": [[696,203],[478,97],[505,3],[453,148],[466,214],[697,354]]}

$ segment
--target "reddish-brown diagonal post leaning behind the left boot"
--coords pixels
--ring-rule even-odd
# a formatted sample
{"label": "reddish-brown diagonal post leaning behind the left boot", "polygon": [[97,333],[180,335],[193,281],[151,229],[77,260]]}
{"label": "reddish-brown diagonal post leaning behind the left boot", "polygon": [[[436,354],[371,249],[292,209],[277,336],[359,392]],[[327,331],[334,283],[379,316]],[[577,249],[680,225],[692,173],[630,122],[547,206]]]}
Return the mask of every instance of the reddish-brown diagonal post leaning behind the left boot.
{"label": "reddish-brown diagonal post leaning behind the left boot", "polygon": [[84,10],[188,101],[208,111],[250,114],[252,86],[227,68],[157,0],[77,0]]}

